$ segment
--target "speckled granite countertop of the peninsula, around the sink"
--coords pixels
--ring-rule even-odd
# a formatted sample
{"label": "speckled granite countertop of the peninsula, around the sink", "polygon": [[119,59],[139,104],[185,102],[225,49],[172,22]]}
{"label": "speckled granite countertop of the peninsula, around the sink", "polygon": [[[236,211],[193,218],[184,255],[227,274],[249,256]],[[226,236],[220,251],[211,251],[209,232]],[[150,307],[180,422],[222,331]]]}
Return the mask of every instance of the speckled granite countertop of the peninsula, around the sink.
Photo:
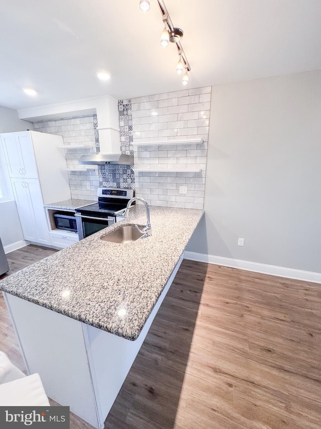
{"label": "speckled granite countertop of the peninsula, around the sink", "polygon": [[151,206],[151,236],[100,239],[123,224],[144,225],[145,208],[136,205],[126,219],[0,281],[0,290],[134,340],[203,213]]}

